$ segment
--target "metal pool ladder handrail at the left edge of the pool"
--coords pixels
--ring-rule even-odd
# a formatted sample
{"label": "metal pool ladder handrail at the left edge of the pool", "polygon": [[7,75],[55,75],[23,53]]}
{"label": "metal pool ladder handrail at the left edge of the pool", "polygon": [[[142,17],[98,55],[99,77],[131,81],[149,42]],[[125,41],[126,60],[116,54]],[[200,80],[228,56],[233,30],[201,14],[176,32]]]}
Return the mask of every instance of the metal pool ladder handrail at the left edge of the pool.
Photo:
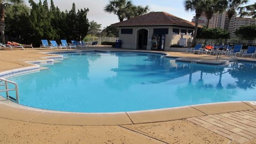
{"label": "metal pool ladder handrail at the left edge of the pool", "polygon": [[[14,88],[9,89],[8,84],[13,84]],[[4,86],[4,89],[2,89],[2,86]],[[9,91],[15,91],[16,98],[9,95]],[[18,84],[17,83],[0,77],[0,92],[5,92],[6,93],[7,100],[11,100],[11,101],[19,103],[19,92],[18,92]]]}

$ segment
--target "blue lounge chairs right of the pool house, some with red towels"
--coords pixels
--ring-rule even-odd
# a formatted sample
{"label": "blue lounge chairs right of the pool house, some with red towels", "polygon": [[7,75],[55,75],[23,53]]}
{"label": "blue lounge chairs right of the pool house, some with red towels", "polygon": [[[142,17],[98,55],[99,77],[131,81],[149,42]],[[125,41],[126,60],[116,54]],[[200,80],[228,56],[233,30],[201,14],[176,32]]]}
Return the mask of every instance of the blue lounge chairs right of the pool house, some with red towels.
{"label": "blue lounge chairs right of the pool house, some with red towels", "polygon": [[213,46],[213,49],[211,51],[207,51],[202,48],[202,44],[197,44],[195,48],[188,49],[188,53],[205,53],[210,55],[216,55],[216,54],[226,54],[226,55],[235,55],[235,57],[245,57],[247,55],[251,56],[251,58],[255,58],[256,56],[256,46],[248,46],[246,51],[242,51],[243,45],[219,45]]}

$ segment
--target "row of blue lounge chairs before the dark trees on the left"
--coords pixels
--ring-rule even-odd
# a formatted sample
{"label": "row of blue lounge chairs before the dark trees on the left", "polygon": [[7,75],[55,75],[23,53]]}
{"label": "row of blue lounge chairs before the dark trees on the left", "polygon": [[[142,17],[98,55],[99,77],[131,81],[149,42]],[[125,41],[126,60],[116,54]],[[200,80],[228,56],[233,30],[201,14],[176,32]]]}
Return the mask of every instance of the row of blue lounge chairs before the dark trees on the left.
{"label": "row of blue lounge chairs before the dark trees on the left", "polygon": [[62,48],[66,48],[66,49],[78,49],[78,48],[84,48],[84,47],[89,47],[89,46],[95,46],[98,45],[98,42],[92,42],[92,44],[90,45],[90,43],[86,43],[84,41],[71,41],[71,43],[67,43],[66,39],[61,39],[61,44],[58,44],[56,41],[51,40],[49,44],[47,39],[41,39],[42,44],[40,45],[41,48],[49,48],[49,49],[62,49]]}

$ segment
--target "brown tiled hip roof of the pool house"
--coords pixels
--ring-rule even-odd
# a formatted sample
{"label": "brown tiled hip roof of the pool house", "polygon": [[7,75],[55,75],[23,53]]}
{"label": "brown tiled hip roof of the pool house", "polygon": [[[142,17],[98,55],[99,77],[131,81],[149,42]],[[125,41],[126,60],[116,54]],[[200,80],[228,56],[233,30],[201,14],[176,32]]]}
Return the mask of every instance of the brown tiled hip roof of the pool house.
{"label": "brown tiled hip roof of the pool house", "polygon": [[114,23],[114,26],[184,26],[195,27],[195,23],[176,17],[166,12],[150,12],[140,17]]}

